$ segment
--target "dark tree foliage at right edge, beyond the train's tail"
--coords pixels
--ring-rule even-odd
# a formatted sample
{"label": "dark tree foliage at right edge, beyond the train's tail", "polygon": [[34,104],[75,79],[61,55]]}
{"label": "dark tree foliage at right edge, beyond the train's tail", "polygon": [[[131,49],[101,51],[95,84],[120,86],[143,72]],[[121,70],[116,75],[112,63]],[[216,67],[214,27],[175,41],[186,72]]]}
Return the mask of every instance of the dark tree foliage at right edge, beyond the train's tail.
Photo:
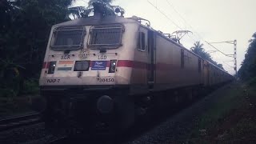
{"label": "dark tree foliage at right edge, beyond the train's tail", "polygon": [[250,39],[250,45],[246,51],[245,59],[241,68],[238,70],[238,76],[242,79],[256,77],[256,33]]}

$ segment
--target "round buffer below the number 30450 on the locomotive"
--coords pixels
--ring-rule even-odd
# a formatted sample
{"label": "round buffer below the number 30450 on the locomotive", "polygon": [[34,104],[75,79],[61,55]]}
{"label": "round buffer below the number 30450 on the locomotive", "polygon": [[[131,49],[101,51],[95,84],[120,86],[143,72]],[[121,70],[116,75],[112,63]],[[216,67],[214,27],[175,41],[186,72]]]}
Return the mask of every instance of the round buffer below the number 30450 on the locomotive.
{"label": "round buffer below the number 30450 on the locomotive", "polygon": [[102,114],[110,114],[114,109],[114,101],[110,96],[103,95],[98,98],[97,109]]}

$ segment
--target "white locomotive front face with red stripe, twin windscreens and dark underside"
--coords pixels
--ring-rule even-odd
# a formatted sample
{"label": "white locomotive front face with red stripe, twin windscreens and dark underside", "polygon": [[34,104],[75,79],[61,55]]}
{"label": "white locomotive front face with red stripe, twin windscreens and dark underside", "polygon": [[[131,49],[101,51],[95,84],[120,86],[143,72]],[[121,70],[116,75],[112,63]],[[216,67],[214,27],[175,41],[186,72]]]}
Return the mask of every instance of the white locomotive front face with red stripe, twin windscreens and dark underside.
{"label": "white locomotive front face with red stripe, twin windscreens and dark underside", "polygon": [[49,128],[109,130],[134,121],[134,20],[79,18],[52,27],[40,77]]}

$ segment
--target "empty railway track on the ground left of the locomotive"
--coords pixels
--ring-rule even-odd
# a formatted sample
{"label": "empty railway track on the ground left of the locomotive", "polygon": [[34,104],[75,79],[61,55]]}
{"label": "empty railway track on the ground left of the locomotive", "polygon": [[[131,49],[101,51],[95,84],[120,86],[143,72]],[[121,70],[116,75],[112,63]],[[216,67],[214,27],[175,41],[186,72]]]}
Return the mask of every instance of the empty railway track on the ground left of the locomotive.
{"label": "empty railway track on the ground left of the locomotive", "polygon": [[32,125],[39,122],[42,122],[39,113],[2,119],[0,120],[0,132],[18,128],[20,126]]}

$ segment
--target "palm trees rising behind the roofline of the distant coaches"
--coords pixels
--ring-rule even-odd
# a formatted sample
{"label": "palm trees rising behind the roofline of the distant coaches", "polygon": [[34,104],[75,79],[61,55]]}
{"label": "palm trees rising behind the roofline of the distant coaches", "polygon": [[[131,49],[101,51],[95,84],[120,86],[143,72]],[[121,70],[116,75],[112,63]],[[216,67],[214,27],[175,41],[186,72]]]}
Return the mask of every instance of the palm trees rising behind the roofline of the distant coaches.
{"label": "palm trees rising behind the roofline of the distant coaches", "polygon": [[212,62],[215,66],[218,66],[219,68],[221,68],[222,70],[224,70],[222,64],[218,64],[217,62],[215,62],[209,53],[207,53],[204,48],[202,48],[203,44],[200,42],[195,42],[194,46],[190,48],[190,50],[192,50],[195,54],[198,54],[199,56],[201,56],[202,58],[208,60],[209,62]]}

